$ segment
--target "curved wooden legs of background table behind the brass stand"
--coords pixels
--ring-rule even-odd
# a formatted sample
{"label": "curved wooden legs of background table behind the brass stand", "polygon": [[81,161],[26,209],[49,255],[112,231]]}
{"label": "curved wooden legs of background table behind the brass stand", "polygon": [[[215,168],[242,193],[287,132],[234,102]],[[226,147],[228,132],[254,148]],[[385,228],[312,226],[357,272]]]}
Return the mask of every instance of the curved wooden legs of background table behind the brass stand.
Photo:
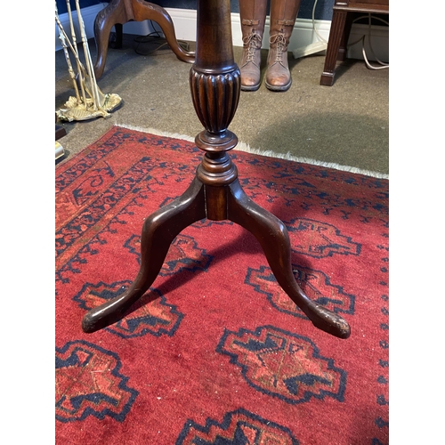
{"label": "curved wooden legs of background table behind the brass stand", "polygon": [[94,20],[94,38],[97,45],[97,60],[94,64],[94,74],[96,78],[101,77],[105,69],[107,59],[109,33],[113,26],[116,28],[116,48],[122,47],[123,25],[130,21],[153,20],[161,27],[167,44],[176,54],[178,59],[193,63],[194,53],[184,51],[174,33],[174,23],[172,18],[164,8],[158,4],[144,2],[143,0],[111,0],[105,8],[101,10]]}

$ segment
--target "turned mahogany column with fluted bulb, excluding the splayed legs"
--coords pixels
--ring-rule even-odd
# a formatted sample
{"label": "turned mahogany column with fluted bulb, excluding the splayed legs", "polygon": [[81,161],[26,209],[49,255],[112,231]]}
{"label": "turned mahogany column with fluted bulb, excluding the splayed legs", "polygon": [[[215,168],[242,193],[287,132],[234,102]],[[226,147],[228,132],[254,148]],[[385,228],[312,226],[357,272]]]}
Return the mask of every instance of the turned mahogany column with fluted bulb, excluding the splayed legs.
{"label": "turned mahogany column with fluted bulb, excluding the splayed legs", "polygon": [[195,142],[206,152],[197,177],[206,186],[207,217],[227,219],[225,190],[238,177],[227,151],[238,138],[227,128],[239,103],[241,75],[233,59],[231,4],[221,0],[198,0],[195,63],[190,69],[193,106],[205,130]]}

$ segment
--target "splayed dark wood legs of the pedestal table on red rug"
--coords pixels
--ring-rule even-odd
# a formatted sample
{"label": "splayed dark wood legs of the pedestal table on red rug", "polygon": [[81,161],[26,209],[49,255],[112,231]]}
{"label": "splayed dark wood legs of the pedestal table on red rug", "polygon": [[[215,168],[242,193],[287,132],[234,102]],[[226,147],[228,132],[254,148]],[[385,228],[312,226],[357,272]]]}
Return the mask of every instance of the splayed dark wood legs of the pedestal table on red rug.
{"label": "splayed dark wood legs of the pedestal table on red rug", "polygon": [[279,285],[313,325],[339,338],[350,336],[350,327],[342,317],[314,303],[296,283],[286,226],[248,198],[238,178],[225,185],[208,185],[199,179],[199,168],[197,177],[181,197],[145,220],[141,267],[133,285],[124,294],[88,312],[82,321],[83,330],[91,333],[124,318],[125,312],[157,278],[174,238],[190,224],[205,218],[230,220],[255,235]]}

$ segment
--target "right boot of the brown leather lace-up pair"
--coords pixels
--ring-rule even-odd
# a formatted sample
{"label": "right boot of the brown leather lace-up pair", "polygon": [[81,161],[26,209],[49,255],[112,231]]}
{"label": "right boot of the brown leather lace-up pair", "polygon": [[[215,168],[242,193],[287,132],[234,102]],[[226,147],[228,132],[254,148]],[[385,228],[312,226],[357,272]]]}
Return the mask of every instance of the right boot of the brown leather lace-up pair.
{"label": "right boot of the brown leather lace-up pair", "polygon": [[271,91],[287,91],[292,85],[287,63],[287,45],[299,9],[300,0],[271,0],[271,28],[265,82]]}

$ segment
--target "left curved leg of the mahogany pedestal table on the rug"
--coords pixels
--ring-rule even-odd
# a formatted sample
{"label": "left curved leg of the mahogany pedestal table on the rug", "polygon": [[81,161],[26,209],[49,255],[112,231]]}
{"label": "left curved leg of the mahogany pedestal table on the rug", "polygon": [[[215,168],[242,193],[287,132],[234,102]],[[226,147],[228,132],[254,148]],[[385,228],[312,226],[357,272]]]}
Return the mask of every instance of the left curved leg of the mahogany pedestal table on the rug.
{"label": "left curved leg of the mahogany pedestal table on the rug", "polygon": [[158,209],[145,220],[141,237],[141,267],[134,283],[124,294],[86,313],[82,320],[84,332],[95,332],[121,320],[157,278],[176,235],[204,218],[204,186],[195,178],[181,197]]}

